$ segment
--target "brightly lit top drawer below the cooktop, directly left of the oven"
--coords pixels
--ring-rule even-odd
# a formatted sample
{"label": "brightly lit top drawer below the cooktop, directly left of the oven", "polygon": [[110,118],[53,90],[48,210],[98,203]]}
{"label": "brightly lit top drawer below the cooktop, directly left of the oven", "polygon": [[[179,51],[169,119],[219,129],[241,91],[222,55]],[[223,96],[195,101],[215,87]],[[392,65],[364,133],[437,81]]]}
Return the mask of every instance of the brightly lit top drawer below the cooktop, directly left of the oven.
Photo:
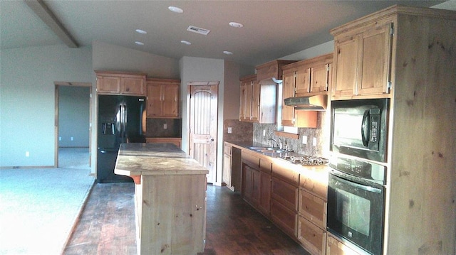
{"label": "brightly lit top drawer below the cooktop, directly left of the oven", "polygon": [[313,170],[307,170],[299,178],[299,187],[326,200],[328,197],[328,173],[316,173]]}

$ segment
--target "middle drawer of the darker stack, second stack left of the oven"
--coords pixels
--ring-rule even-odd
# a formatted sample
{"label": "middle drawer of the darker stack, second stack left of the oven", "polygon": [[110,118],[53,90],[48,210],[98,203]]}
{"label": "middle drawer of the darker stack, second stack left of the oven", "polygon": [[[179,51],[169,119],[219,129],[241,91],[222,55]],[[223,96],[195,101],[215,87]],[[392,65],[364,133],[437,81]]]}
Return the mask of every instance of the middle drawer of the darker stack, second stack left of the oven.
{"label": "middle drawer of the darker stack, second stack left of the oven", "polygon": [[298,192],[299,189],[294,185],[272,177],[271,197],[281,202],[290,210],[298,210]]}

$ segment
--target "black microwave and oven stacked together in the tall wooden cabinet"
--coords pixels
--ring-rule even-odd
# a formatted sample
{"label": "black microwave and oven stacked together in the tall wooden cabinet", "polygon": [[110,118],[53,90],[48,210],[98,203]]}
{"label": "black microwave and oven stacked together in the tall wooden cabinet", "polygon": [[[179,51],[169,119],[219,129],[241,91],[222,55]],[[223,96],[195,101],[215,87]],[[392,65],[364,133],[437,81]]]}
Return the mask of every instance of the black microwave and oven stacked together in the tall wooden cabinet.
{"label": "black microwave and oven stacked together in the tall wooden cabinet", "polygon": [[382,254],[389,99],[331,102],[327,228],[362,254]]}

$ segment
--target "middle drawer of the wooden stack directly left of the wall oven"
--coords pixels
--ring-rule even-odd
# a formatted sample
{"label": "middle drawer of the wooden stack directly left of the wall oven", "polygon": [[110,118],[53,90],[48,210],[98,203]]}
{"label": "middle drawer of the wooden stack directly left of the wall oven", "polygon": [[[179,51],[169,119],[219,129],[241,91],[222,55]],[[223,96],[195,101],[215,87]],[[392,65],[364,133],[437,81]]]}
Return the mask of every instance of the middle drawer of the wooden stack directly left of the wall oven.
{"label": "middle drawer of the wooden stack directly left of the wall oven", "polygon": [[305,190],[299,190],[299,215],[326,229],[326,202]]}

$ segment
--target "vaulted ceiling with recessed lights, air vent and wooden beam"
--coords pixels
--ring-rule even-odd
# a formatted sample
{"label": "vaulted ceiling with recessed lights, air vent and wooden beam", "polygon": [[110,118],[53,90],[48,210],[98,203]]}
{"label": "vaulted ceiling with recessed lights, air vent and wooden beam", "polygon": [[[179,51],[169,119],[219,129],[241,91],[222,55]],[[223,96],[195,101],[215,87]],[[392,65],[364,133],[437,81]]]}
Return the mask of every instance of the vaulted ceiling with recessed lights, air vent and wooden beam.
{"label": "vaulted ceiling with recessed lights, air vent and wooden beam", "polygon": [[[456,9],[456,0],[1,0],[0,47],[11,49],[62,43],[80,47],[101,41],[168,58],[224,58],[244,65],[258,65],[326,43],[333,39],[329,33],[331,28],[393,4],[425,7],[438,4],[437,8]],[[169,6],[183,12],[172,12]],[[244,27],[229,26],[232,21],[242,23]],[[187,31],[189,26],[204,28],[209,33],[192,33]],[[136,29],[147,33],[137,33]],[[181,40],[191,45],[185,45]],[[225,50],[233,54],[225,55]]]}

